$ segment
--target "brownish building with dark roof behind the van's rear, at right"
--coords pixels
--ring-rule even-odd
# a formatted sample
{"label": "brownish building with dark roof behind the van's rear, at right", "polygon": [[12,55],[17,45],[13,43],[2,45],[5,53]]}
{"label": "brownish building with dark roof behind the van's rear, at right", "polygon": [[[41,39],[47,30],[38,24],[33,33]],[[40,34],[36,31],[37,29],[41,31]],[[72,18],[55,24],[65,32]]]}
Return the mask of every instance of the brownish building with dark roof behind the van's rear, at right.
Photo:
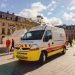
{"label": "brownish building with dark roof behind the van's rear, at right", "polygon": [[57,27],[64,28],[67,39],[75,39],[75,25],[61,25]]}

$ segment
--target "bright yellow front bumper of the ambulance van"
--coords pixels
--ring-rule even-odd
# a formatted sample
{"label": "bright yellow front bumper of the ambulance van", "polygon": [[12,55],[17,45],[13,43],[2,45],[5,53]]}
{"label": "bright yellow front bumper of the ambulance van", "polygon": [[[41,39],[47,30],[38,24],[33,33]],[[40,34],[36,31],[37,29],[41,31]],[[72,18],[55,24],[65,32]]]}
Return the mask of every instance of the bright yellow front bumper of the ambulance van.
{"label": "bright yellow front bumper of the ambulance van", "polygon": [[41,55],[41,50],[14,50],[14,58],[25,61],[38,61]]}

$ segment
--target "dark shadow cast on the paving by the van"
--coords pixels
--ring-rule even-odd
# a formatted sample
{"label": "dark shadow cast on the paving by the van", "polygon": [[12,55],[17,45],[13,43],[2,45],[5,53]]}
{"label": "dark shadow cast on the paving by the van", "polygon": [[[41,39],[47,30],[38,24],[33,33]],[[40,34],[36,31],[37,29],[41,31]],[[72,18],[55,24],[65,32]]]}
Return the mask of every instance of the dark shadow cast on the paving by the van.
{"label": "dark shadow cast on the paving by the van", "polygon": [[[60,56],[62,55],[58,54],[48,58],[47,63]],[[38,62],[14,61],[0,65],[0,75],[24,75],[27,72],[31,72],[33,70],[40,68],[41,66],[43,65],[40,65]]]}

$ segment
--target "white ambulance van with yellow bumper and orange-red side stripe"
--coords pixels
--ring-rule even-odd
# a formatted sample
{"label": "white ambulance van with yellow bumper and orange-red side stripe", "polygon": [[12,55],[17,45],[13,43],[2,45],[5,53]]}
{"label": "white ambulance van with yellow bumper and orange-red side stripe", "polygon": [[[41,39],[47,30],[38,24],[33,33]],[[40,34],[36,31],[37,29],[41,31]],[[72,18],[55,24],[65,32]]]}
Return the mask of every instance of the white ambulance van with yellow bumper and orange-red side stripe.
{"label": "white ambulance van with yellow bumper and orange-red side stripe", "polygon": [[65,31],[47,25],[31,28],[14,48],[14,57],[20,61],[45,63],[48,57],[58,53],[66,53]]}

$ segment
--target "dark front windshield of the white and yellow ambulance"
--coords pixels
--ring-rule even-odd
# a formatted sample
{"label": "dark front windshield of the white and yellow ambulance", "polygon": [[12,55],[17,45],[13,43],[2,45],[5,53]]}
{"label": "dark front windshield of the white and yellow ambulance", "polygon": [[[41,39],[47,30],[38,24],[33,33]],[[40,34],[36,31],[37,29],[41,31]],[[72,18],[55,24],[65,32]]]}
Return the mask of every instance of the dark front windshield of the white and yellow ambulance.
{"label": "dark front windshield of the white and yellow ambulance", "polygon": [[21,40],[41,40],[45,30],[29,31]]}

